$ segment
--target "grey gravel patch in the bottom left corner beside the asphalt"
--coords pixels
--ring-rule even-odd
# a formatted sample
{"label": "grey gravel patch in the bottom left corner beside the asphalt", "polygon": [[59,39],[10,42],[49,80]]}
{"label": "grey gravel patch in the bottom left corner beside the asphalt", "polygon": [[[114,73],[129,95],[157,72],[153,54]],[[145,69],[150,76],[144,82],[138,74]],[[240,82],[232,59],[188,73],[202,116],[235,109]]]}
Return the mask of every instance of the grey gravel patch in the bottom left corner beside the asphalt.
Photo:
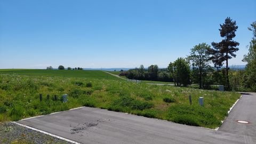
{"label": "grey gravel patch in the bottom left corner beside the asphalt", "polygon": [[7,122],[0,123],[0,143],[70,143],[26,127]]}

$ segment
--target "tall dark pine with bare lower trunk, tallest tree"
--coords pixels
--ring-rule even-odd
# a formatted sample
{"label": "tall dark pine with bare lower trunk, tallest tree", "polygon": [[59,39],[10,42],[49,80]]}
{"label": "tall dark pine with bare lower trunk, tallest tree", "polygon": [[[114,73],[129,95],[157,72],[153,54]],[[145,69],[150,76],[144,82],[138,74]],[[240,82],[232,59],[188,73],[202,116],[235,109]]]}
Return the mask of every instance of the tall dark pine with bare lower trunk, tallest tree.
{"label": "tall dark pine with bare lower trunk, tallest tree", "polygon": [[228,60],[231,58],[235,58],[235,52],[238,51],[239,43],[234,41],[233,38],[236,36],[235,31],[238,26],[236,26],[236,21],[230,19],[230,17],[225,19],[225,23],[220,24],[220,36],[223,37],[221,42],[215,43],[212,42],[213,49],[209,50],[209,53],[212,54],[211,60],[214,63],[214,66],[220,68],[223,66],[223,62],[226,61],[226,84],[228,89],[230,89],[229,85],[229,77],[228,77]]}

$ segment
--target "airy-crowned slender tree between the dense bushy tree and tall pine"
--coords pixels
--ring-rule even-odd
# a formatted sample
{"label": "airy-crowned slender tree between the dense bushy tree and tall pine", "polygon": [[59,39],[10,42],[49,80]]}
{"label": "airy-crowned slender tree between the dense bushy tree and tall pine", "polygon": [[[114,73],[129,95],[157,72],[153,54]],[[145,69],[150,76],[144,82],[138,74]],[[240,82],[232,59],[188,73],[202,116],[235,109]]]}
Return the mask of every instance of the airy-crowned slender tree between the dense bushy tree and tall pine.
{"label": "airy-crowned slender tree between the dense bushy tree and tall pine", "polygon": [[[209,66],[210,54],[208,53],[208,51],[210,50],[210,48],[210,45],[207,45],[206,43],[195,45],[191,49],[190,55],[187,58],[192,63],[194,70],[193,74],[198,75],[200,89],[202,88],[203,72]],[[198,69],[198,73],[195,73],[196,69]]]}

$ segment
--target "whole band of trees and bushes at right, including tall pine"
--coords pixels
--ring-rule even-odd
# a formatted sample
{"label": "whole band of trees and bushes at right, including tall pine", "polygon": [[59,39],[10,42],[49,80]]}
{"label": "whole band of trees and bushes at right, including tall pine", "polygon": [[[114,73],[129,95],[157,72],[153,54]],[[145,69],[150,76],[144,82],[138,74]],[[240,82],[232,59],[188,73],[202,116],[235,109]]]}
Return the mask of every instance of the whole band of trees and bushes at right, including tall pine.
{"label": "whole band of trees and bushes at right, including tall pine", "polygon": [[[186,58],[178,58],[170,62],[166,69],[158,69],[157,65],[151,65],[147,69],[140,68],[123,71],[130,79],[174,82],[175,86],[187,86],[198,83],[200,89],[208,89],[210,85],[225,85],[231,90],[234,86],[245,86],[256,91],[256,21],[251,24],[249,30],[253,37],[249,45],[249,52],[244,55],[247,62],[245,70],[230,70],[229,59],[235,58],[239,43],[234,41],[235,32],[238,29],[236,21],[229,17],[220,24],[220,42],[212,42],[195,45]],[[214,67],[210,66],[213,63]],[[225,65],[225,68],[222,66]],[[231,81],[231,82],[230,82]]]}

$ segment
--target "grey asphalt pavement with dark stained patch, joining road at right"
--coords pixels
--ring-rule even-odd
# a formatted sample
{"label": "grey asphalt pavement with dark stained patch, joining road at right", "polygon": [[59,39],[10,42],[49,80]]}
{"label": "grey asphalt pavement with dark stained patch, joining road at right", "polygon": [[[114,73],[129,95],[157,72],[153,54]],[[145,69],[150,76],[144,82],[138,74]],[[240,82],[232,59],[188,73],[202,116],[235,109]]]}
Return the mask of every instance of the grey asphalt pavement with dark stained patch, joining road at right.
{"label": "grey asphalt pavement with dark stained patch, joining road at right", "polygon": [[[230,112],[231,118],[228,117],[219,131],[89,107],[18,123],[81,143],[256,143],[255,105],[251,107],[252,103],[245,103],[247,106],[244,106],[250,99],[255,100],[255,94],[245,95],[237,102]],[[240,115],[236,110],[240,111],[239,107],[250,109],[249,114],[253,116],[242,111],[245,116],[239,117],[250,121],[250,125],[234,122]]]}

